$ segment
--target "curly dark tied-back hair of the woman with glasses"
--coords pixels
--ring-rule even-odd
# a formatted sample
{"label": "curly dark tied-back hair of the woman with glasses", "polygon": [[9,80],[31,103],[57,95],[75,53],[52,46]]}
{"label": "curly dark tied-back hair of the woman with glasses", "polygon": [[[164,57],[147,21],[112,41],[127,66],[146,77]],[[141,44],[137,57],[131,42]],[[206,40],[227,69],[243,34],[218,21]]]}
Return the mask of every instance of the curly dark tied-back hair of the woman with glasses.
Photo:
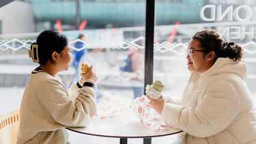
{"label": "curly dark tied-back hair of the woman with glasses", "polygon": [[234,61],[239,61],[244,57],[242,47],[234,42],[225,42],[221,35],[214,30],[205,29],[195,33],[192,38],[200,42],[200,47],[206,50],[206,53],[214,51],[215,61],[218,57],[229,57]]}

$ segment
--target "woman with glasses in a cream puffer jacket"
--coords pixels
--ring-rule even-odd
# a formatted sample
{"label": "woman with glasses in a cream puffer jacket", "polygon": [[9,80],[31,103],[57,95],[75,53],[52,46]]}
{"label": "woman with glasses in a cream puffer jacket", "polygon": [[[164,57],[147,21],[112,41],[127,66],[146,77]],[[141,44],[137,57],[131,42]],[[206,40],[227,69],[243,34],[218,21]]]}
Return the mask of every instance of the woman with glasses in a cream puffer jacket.
{"label": "woman with glasses in a cream puffer jacket", "polygon": [[191,76],[180,100],[150,104],[183,130],[180,143],[256,143],[256,109],[248,91],[243,49],[212,30],[195,33],[186,50]]}

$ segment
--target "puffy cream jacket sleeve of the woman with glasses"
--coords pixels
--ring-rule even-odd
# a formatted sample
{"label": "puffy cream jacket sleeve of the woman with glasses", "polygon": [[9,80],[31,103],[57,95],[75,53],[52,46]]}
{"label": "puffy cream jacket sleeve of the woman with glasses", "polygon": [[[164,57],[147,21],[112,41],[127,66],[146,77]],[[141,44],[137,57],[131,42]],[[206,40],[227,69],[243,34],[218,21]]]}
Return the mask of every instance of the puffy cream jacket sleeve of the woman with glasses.
{"label": "puffy cream jacket sleeve of the woman with glasses", "polygon": [[167,103],[162,110],[165,124],[197,137],[212,136],[231,124],[239,113],[238,89],[228,81],[212,83],[195,108]]}

